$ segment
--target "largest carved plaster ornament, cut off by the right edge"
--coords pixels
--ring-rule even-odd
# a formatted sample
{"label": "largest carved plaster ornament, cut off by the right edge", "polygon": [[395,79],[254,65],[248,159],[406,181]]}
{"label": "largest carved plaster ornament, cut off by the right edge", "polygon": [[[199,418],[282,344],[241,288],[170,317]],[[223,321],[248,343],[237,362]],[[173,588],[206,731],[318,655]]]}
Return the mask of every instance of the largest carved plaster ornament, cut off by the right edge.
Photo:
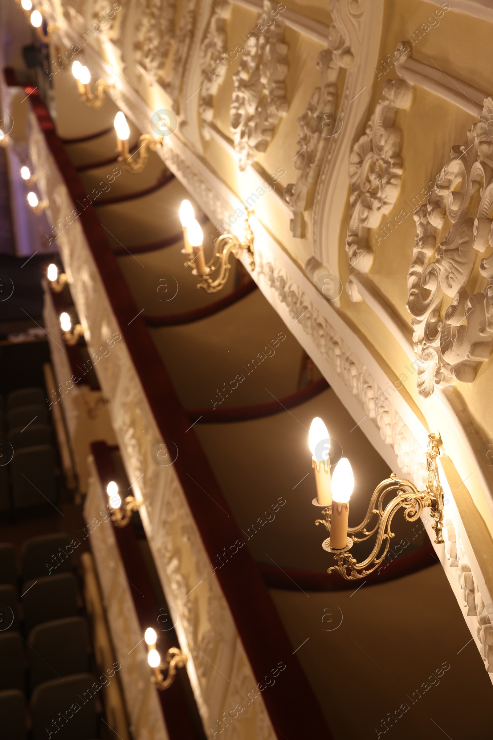
{"label": "largest carved plaster ornament, cut off by the right edge", "polygon": [[[435,189],[414,212],[418,235],[407,275],[407,309],[421,361],[418,391],[425,398],[435,386],[455,380],[472,383],[479,364],[492,351],[492,98],[484,105],[467,141],[452,147]],[[437,246],[436,233],[446,218],[451,226]],[[486,253],[478,270],[477,252]]]}

